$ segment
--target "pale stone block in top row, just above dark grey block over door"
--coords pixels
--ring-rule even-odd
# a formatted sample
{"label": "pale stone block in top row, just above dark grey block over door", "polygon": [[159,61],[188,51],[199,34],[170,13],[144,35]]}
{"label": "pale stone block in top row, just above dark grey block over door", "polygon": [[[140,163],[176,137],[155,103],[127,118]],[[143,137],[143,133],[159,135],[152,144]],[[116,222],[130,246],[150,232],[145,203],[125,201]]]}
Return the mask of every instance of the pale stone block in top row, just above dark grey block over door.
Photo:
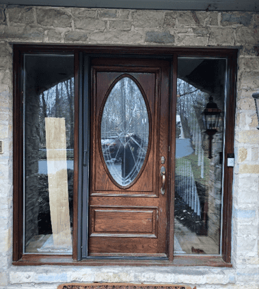
{"label": "pale stone block in top row, just above dark grey block over door", "polygon": [[161,27],[163,12],[153,10],[137,10],[132,13],[133,25],[140,28]]}

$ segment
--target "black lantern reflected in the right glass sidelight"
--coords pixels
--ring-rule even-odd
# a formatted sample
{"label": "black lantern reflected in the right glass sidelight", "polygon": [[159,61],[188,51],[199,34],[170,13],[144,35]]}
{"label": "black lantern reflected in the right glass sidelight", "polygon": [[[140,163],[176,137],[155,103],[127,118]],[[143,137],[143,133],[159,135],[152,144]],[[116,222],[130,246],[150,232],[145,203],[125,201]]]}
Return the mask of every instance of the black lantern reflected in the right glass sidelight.
{"label": "black lantern reflected in the right glass sidelight", "polygon": [[211,151],[212,151],[212,140],[213,136],[217,132],[217,128],[219,125],[219,116],[221,110],[217,107],[217,104],[213,102],[213,97],[209,97],[208,103],[206,105],[205,110],[202,112],[202,119],[204,122],[204,126],[206,128],[206,134],[208,134],[209,146],[208,146],[208,158],[211,159]]}

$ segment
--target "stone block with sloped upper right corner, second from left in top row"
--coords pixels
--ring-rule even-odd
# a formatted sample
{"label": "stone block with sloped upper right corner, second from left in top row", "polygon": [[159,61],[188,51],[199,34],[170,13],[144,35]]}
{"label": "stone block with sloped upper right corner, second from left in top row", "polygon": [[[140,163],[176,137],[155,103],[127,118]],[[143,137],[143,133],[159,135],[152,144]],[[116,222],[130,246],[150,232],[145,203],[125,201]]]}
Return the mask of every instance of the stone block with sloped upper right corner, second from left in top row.
{"label": "stone block with sloped upper right corner, second from left in top row", "polygon": [[36,15],[42,26],[71,27],[71,16],[62,10],[36,8]]}

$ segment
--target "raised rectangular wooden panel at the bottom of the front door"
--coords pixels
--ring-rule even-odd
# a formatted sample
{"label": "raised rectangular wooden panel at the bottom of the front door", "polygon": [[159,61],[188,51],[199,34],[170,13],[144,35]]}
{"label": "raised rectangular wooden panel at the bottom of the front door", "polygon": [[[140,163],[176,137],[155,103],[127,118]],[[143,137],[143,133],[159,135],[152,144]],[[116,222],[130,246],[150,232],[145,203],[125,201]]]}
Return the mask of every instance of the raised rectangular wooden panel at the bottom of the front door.
{"label": "raised rectangular wooden panel at the bottom of the front door", "polygon": [[92,208],[91,236],[156,238],[157,208]]}

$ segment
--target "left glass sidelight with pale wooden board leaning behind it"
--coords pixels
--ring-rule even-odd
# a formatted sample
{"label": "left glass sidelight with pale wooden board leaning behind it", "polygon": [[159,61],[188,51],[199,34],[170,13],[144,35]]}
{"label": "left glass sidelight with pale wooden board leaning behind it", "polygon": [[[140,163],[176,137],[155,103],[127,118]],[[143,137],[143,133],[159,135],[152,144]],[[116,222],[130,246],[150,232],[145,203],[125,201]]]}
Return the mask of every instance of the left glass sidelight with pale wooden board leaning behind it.
{"label": "left glass sidelight with pale wooden board leaning behind it", "polygon": [[24,251],[71,254],[74,56],[24,61]]}

